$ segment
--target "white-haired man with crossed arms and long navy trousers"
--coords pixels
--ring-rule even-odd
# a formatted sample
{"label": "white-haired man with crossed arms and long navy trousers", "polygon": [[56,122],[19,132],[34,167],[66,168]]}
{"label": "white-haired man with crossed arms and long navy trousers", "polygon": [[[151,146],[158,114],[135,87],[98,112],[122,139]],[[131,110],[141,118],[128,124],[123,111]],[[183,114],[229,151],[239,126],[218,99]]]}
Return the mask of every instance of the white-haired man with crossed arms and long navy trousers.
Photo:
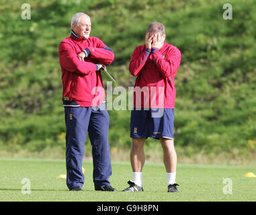
{"label": "white-haired man with crossed arms and long navy trousers", "polygon": [[[100,69],[114,60],[114,52],[99,38],[90,37],[91,19],[76,13],[71,19],[71,36],[60,42],[58,54],[62,71],[62,101],[66,123],[67,187],[81,191],[87,132],[92,145],[94,189],[116,191],[112,175],[108,129],[110,117],[105,109],[105,92]],[[99,95],[100,94],[100,95]],[[95,101],[95,98],[97,101]]]}

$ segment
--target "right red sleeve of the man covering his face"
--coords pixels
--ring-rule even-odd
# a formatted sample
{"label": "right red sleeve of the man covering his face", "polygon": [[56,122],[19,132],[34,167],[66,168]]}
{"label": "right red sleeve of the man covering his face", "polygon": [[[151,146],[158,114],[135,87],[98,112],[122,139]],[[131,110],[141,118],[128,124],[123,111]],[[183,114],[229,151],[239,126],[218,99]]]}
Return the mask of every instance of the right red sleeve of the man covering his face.
{"label": "right red sleeve of the man covering his face", "polygon": [[177,70],[179,69],[179,64],[181,63],[181,52],[175,46],[167,54],[165,58],[158,48],[152,48],[153,59],[157,64],[157,68],[161,71],[163,77],[175,76]]}

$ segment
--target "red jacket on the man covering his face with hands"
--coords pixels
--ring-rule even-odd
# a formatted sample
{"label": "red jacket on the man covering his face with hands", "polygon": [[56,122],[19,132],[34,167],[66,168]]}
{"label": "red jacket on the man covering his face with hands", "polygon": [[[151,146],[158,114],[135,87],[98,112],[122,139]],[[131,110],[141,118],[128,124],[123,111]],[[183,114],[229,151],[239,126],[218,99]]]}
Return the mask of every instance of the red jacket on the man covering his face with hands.
{"label": "red jacket on the man covering his face with hands", "polygon": [[181,52],[167,42],[160,50],[137,46],[129,64],[130,73],[137,76],[134,107],[175,108],[174,78],[180,62]]}

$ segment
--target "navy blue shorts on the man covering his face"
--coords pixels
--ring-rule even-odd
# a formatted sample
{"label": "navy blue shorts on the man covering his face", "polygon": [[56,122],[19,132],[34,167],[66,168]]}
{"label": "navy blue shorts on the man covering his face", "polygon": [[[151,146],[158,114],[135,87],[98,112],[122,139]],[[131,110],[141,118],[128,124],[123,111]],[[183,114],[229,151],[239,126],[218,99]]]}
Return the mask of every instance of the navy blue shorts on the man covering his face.
{"label": "navy blue shorts on the man covering his face", "polygon": [[130,117],[130,137],[174,139],[174,109],[147,108],[134,110]]}

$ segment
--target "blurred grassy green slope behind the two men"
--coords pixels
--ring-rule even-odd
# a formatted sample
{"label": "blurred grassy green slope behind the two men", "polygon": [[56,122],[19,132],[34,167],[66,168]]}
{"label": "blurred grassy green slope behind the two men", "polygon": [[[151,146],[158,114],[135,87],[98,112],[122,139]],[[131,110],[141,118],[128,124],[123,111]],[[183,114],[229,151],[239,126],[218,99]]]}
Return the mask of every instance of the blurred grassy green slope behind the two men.
{"label": "blurred grassy green slope behind the two men", "polygon": [[[128,71],[132,51],[144,44],[150,22],[165,25],[166,41],[182,53],[175,79],[178,156],[255,158],[255,1],[228,1],[232,20],[222,17],[227,2],[214,0],[28,0],[30,20],[21,17],[23,1],[0,2],[1,155],[65,156],[58,44],[70,35],[73,14],[83,11],[91,16],[91,36],[114,50],[109,70],[127,91],[135,81]],[[130,111],[109,114],[112,155],[127,158]],[[146,150],[148,157],[161,153],[157,140],[148,139]]]}

